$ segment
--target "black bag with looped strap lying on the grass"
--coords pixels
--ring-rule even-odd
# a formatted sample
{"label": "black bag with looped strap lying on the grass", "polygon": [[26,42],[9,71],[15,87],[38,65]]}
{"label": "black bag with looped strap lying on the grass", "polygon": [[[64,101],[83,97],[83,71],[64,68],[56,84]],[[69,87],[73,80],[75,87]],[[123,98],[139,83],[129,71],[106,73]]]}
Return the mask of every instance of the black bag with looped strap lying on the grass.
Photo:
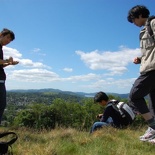
{"label": "black bag with looped strap lying on the grass", "polygon": [[18,136],[14,132],[3,132],[0,133],[0,138],[7,137],[10,138],[9,141],[0,141],[0,155],[13,155],[12,144],[18,139]]}

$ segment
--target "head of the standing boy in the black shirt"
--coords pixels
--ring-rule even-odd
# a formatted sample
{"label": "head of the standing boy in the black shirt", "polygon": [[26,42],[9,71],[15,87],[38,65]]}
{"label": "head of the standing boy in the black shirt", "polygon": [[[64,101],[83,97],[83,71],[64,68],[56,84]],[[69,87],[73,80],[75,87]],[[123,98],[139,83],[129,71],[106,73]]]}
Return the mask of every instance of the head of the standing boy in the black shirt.
{"label": "head of the standing boy in the black shirt", "polygon": [[4,28],[0,32],[0,44],[1,44],[1,46],[9,44],[14,39],[15,39],[15,34],[11,30]]}

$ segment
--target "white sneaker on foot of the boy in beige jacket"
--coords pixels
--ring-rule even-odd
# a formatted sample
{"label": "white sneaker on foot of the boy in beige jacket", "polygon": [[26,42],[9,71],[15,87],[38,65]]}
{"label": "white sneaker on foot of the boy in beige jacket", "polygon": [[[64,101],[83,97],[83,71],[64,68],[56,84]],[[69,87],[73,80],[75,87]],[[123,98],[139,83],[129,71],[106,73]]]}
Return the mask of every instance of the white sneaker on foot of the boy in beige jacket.
{"label": "white sneaker on foot of the boy in beige jacket", "polygon": [[148,141],[153,138],[155,138],[155,130],[151,127],[148,127],[148,129],[145,131],[145,134],[139,137],[141,141]]}

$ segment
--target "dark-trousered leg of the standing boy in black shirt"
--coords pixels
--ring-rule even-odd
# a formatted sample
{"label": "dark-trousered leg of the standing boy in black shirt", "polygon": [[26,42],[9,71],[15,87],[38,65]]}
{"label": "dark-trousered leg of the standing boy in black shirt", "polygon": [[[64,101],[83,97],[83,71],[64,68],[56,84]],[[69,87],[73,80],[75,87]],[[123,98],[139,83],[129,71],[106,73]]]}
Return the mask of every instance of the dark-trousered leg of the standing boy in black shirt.
{"label": "dark-trousered leg of the standing boy in black shirt", "polygon": [[0,124],[2,120],[2,116],[4,113],[4,109],[6,107],[6,89],[5,84],[0,83]]}

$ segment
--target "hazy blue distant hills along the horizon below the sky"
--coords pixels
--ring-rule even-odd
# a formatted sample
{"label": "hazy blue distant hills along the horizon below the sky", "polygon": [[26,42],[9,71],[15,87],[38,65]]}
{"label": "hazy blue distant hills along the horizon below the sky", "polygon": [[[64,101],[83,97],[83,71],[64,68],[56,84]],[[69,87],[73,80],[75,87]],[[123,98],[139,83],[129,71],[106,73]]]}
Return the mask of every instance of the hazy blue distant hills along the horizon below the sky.
{"label": "hazy blue distant hills along the horizon below the sky", "polygon": [[[53,89],[53,88],[46,88],[46,89],[14,89],[14,90],[8,90],[8,92],[17,92],[17,93],[62,93],[62,94],[68,94],[68,95],[76,95],[76,96],[81,96],[81,97],[93,97],[96,92],[94,93],[85,93],[85,92],[71,92],[71,91],[62,91],[59,89]],[[117,94],[117,93],[109,93],[106,92],[107,94],[111,94],[113,96],[119,96],[120,98],[128,98],[129,94]]]}

